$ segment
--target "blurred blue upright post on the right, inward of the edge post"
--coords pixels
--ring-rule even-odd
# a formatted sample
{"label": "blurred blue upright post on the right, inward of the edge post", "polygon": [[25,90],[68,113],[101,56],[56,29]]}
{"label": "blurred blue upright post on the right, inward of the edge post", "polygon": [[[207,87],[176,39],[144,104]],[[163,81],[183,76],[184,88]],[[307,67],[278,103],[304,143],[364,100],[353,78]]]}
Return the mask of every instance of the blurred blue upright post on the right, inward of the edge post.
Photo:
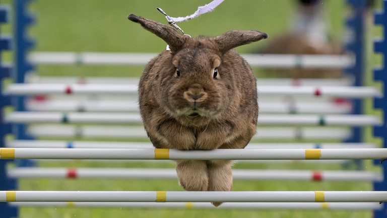
{"label": "blurred blue upright post on the right, inward of the edge post", "polygon": [[[351,8],[351,15],[346,20],[348,39],[345,49],[348,53],[354,55],[355,64],[345,69],[347,75],[354,78],[355,86],[364,85],[363,73],[365,71],[365,10],[367,9],[367,0],[347,0]],[[361,100],[352,100],[353,114],[363,114],[363,102]],[[361,142],[363,128],[353,127],[353,136],[347,142]],[[362,162],[356,161],[357,167],[362,168]]]}

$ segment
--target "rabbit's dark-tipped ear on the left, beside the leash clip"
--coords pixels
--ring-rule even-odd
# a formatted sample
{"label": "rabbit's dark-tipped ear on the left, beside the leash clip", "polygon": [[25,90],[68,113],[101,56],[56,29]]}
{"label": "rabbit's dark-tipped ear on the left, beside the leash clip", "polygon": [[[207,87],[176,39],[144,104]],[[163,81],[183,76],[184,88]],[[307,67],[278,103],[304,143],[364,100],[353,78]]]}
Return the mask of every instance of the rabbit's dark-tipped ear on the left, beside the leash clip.
{"label": "rabbit's dark-tipped ear on the left, beside the leash clip", "polygon": [[129,15],[127,19],[140,23],[146,30],[163,39],[172,51],[179,50],[185,43],[186,37],[170,26],[143,17],[137,17],[133,14]]}

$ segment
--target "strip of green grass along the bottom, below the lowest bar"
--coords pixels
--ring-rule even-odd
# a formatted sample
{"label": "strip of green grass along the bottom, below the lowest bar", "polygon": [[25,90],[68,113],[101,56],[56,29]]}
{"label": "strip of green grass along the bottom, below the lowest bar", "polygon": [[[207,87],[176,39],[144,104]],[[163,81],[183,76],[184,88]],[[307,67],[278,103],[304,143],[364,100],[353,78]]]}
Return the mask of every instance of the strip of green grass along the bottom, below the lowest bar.
{"label": "strip of green grass along the bottom, below the lowest bar", "polygon": [[[246,217],[246,218],[282,218],[282,217],[351,217],[364,218],[371,217],[370,212],[346,212],[346,211],[301,211],[301,210],[221,210],[221,209],[125,209],[125,208],[93,208],[93,209],[76,209],[76,208],[51,208],[51,209],[31,209],[25,210],[25,217],[31,217],[30,214],[35,212],[39,217]],[[22,216],[23,217],[23,216]]]}

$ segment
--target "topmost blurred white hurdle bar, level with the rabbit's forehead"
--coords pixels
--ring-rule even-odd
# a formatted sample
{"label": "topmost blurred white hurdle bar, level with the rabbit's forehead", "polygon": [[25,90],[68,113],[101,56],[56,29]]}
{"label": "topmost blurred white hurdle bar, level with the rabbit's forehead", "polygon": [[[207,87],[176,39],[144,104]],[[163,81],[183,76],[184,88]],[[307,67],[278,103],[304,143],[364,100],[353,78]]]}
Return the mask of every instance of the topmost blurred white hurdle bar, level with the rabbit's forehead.
{"label": "topmost blurred white hurdle bar, level with the rabbit's forehead", "polygon": [[[145,65],[158,53],[33,52],[33,64]],[[242,54],[251,67],[345,68],[354,64],[351,55]]]}

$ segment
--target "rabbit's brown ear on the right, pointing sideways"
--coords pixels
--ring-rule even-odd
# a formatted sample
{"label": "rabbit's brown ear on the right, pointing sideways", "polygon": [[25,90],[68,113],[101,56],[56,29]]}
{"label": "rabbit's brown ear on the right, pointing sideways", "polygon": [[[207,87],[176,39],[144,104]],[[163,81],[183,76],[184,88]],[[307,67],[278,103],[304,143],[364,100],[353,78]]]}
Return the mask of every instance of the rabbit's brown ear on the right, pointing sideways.
{"label": "rabbit's brown ear on the right, pointing sideways", "polygon": [[230,31],[215,37],[214,40],[219,46],[219,51],[226,53],[232,48],[266,38],[268,35],[259,31]]}

